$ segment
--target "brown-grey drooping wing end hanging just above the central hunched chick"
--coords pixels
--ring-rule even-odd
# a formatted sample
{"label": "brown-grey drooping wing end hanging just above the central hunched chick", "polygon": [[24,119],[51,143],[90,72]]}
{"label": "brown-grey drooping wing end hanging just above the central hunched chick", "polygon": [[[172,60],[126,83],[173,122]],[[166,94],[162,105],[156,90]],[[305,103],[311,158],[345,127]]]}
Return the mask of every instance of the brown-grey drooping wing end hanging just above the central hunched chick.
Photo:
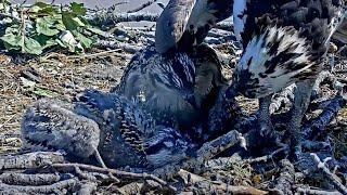
{"label": "brown-grey drooping wing end hanging just above the central hunched chick", "polygon": [[231,16],[233,0],[171,0],[156,27],[156,50],[189,49],[203,42],[216,23]]}

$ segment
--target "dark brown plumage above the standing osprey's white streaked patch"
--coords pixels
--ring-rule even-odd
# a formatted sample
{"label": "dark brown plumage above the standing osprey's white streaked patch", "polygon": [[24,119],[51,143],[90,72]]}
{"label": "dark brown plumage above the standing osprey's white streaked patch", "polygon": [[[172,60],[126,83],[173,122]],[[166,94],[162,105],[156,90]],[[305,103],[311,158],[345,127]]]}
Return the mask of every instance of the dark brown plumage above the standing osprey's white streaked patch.
{"label": "dark brown plumage above the standing osprey's white streaked patch", "polygon": [[264,27],[257,18],[269,17],[278,25],[293,26],[300,36],[320,50],[326,46],[332,34],[344,17],[342,0],[247,0],[245,29],[242,32],[246,47],[257,28]]}

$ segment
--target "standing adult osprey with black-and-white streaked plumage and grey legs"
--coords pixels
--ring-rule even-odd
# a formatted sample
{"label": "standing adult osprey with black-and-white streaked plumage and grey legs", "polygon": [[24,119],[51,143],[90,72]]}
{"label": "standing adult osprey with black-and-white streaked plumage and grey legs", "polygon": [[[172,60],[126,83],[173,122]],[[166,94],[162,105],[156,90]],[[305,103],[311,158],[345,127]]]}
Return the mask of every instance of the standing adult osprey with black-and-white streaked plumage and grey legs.
{"label": "standing adult osprey with black-and-white streaked plumage and grey legs", "polygon": [[230,89],[259,99],[262,131],[271,129],[272,94],[296,83],[287,128],[294,145],[299,145],[298,129],[313,82],[343,17],[342,0],[234,1],[234,31],[244,51]]}

